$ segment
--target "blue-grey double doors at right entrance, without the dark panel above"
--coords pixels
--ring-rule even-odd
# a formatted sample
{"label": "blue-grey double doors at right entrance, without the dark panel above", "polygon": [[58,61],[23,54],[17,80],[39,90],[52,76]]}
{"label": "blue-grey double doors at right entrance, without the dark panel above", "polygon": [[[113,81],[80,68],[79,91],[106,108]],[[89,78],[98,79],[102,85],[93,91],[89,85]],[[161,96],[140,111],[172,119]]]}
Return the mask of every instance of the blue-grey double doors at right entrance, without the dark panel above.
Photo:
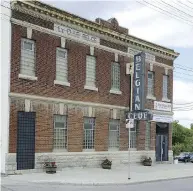
{"label": "blue-grey double doors at right entrance, without the dark panel above", "polygon": [[168,161],[168,135],[156,135],[156,161]]}

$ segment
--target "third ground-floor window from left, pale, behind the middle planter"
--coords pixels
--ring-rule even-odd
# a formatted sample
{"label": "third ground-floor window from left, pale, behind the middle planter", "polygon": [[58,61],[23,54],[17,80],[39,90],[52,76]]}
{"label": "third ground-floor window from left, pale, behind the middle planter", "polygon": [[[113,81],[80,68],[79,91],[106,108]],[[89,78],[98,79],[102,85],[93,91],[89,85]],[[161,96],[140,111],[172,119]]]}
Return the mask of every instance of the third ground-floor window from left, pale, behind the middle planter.
{"label": "third ground-floor window from left, pale, behind the middle planter", "polygon": [[[117,129],[112,130],[111,125],[116,125]],[[114,137],[116,137],[116,141],[114,142]],[[113,140],[112,140],[113,138]],[[118,119],[110,119],[109,121],[109,139],[108,139],[108,150],[119,150],[120,147],[120,120]]]}

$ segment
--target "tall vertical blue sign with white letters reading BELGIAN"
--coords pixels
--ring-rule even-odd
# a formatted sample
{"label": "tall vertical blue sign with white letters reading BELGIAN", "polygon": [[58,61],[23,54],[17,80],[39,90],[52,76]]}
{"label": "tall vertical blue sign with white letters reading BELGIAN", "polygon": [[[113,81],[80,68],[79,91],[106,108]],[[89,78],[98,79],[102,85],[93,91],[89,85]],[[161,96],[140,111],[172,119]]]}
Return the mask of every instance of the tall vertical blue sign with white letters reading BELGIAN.
{"label": "tall vertical blue sign with white letters reading BELGIAN", "polygon": [[145,53],[134,56],[133,111],[144,110]]}

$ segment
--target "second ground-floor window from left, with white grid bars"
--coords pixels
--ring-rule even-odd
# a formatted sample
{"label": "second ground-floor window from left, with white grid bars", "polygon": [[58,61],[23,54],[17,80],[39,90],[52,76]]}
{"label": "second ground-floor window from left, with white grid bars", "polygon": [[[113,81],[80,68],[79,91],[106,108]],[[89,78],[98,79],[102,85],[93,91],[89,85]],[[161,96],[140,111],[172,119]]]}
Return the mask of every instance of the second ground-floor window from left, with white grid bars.
{"label": "second ground-floor window from left, with white grid bars", "polygon": [[94,149],[95,118],[84,118],[84,143],[83,148]]}

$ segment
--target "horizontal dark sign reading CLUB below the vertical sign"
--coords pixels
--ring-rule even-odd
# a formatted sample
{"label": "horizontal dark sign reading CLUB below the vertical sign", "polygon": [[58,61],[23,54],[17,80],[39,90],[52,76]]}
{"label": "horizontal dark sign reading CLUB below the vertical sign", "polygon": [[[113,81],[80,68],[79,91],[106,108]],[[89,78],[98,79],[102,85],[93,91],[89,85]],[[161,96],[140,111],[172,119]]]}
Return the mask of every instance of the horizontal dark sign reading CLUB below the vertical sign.
{"label": "horizontal dark sign reading CLUB below the vertical sign", "polygon": [[126,114],[126,119],[134,120],[152,120],[153,115],[149,111],[132,111]]}

